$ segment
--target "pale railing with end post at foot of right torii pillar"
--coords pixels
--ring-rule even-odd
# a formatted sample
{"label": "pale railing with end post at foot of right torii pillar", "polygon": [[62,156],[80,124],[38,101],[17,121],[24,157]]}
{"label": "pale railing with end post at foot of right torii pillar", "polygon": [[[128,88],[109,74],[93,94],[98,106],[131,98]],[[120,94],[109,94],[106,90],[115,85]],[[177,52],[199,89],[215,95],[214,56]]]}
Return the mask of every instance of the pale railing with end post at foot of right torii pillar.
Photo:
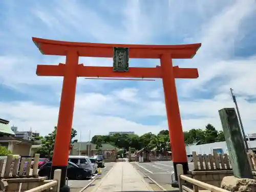
{"label": "pale railing with end post at foot of right torii pillar", "polygon": [[[178,175],[178,182],[179,182],[179,191],[187,191],[187,192],[198,192],[198,187],[202,187],[207,189],[211,192],[229,192],[226,189],[222,189],[220,187],[216,187],[214,185],[210,185],[208,183],[204,183],[202,181],[198,181],[196,179],[190,178],[188,176],[183,175],[183,167],[181,164],[177,164],[177,175]],[[183,185],[184,181],[187,181],[193,184],[193,189],[188,188],[187,186]]]}

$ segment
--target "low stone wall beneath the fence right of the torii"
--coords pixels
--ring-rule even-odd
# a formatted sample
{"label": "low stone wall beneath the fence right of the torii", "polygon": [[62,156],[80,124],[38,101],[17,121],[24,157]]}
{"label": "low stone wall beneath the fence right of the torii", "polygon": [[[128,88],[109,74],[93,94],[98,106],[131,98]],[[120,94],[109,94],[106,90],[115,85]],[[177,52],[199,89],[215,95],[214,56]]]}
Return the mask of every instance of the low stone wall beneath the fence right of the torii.
{"label": "low stone wall beneath the fence right of the torii", "polygon": [[[192,178],[196,180],[220,187],[222,179],[226,176],[233,176],[233,171],[232,170],[207,170],[207,171],[202,170],[202,171],[189,171],[188,174],[191,175]],[[201,188],[199,187],[199,189]]]}

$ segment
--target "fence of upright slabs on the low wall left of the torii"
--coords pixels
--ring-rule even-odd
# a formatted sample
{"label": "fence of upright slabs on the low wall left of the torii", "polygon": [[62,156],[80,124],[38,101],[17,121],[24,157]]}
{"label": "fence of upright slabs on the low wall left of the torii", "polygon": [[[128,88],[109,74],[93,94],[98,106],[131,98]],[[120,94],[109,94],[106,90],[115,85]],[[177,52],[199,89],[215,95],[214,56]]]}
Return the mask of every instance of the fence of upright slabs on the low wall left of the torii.
{"label": "fence of upright slabs on the low wall left of the torii", "polygon": [[17,177],[38,177],[39,154],[33,158],[33,169],[31,173],[32,158],[19,158],[8,155],[7,158],[0,159],[0,178],[17,178]]}

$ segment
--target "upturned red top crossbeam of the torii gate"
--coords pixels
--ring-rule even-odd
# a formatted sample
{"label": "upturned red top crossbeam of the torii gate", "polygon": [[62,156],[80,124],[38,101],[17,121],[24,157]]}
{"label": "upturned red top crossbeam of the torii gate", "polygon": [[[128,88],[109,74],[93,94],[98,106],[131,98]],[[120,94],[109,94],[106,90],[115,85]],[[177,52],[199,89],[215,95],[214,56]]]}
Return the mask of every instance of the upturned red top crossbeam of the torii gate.
{"label": "upturned red top crossbeam of the torii gate", "polygon": [[45,55],[66,56],[68,50],[76,50],[82,57],[113,57],[113,47],[128,47],[130,58],[160,58],[170,54],[173,59],[193,58],[201,44],[188,45],[125,45],[68,42],[32,37],[37,48]]}

